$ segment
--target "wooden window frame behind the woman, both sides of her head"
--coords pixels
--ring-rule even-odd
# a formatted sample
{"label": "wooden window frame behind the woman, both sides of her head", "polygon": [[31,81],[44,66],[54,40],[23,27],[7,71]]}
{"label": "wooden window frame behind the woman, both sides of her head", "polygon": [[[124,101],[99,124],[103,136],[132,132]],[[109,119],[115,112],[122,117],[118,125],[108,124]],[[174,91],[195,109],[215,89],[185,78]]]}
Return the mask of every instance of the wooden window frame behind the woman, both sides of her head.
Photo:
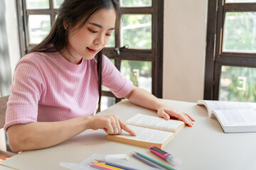
{"label": "wooden window frame behind the woman, both sides of her head", "polygon": [[[29,9],[26,10],[26,0],[16,0],[18,12],[19,38],[21,44],[21,56],[31,50],[34,45],[28,42],[28,15],[48,14],[50,15],[51,26],[55,21],[55,15],[58,9],[53,8],[53,0],[49,0],[48,9]],[[152,45],[151,50],[123,49],[120,55],[116,55],[114,47],[106,47],[104,53],[110,59],[114,60],[117,69],[120,70],[122,60],[149,61],[152,63],[152,94],[162,98],[163,86],[163,32],[164,32],[164,0],[152,0],[152,6],[147,7],[121,7],[122,14],[151,14],[152,16]],[[120,47],[119,33],[115,35],[115,47]],[[114,97],[110,91],[102,91],[102,96]],[[116,103],[121,98],[115,98]]]}

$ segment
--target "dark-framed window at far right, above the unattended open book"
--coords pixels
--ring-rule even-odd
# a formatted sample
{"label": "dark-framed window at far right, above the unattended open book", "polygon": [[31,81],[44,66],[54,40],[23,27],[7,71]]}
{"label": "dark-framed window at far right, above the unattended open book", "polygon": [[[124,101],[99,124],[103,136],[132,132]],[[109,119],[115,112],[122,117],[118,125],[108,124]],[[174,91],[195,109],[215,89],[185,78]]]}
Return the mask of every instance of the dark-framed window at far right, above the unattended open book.
{"label": "dark-framed window at far right, above the unattended open book", "polygon": [[256,1],[209,0],[207,40],[204,98],[256,102]]}

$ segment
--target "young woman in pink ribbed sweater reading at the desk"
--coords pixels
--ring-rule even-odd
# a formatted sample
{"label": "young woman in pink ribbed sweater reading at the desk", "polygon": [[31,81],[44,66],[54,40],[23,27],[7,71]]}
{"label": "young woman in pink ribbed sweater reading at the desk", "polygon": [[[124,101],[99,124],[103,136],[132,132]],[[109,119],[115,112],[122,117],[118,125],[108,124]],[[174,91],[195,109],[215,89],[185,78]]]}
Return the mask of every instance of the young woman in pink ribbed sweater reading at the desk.
{"label": "young woman in pink ribbed sweater reading at the desk", "polygon": [[193,125],[190,115],[133,86],[102,55],[119,17],[115,0],[63,2],[49,35],[16,66],[4,126],[14,152],[58,145],[87,129],[136,135],[117,115],[94,114],[102,84],[161,118]]}

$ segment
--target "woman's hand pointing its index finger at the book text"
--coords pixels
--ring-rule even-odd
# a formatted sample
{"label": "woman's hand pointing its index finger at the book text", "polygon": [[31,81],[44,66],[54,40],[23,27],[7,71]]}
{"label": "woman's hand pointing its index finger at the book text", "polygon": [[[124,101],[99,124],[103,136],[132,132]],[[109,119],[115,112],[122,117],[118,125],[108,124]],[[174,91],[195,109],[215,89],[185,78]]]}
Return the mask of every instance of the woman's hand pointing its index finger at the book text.
{"label": "woman's hand pointing its index finger at the book text", "polygon": [[130,135],[136,136],[135,132],[130,130],[125,125],[118,115],[92,115],[90,121],[90,128],[92,130],[103,129],[107,134],[117,135],[122,130],[129,132]]}

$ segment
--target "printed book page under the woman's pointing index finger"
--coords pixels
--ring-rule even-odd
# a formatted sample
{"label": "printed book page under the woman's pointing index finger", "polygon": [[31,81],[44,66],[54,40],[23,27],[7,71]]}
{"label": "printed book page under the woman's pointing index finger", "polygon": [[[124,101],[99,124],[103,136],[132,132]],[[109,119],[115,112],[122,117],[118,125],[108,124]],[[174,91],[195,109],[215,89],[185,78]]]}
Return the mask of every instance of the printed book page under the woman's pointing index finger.
{"label": "printed book page under the woman's pointing index finger", "polygon": [[174,133],[172,132],[142,128],[132,125],[127,126],[136,133],[136,136],[132,136],[128,132],[125,132],[124,130],[122,131],[122,134],[114,136],[123,137],[129,140],[138,140],[151,143],[163,143],[170,137],[170,135],[174,135]]}

